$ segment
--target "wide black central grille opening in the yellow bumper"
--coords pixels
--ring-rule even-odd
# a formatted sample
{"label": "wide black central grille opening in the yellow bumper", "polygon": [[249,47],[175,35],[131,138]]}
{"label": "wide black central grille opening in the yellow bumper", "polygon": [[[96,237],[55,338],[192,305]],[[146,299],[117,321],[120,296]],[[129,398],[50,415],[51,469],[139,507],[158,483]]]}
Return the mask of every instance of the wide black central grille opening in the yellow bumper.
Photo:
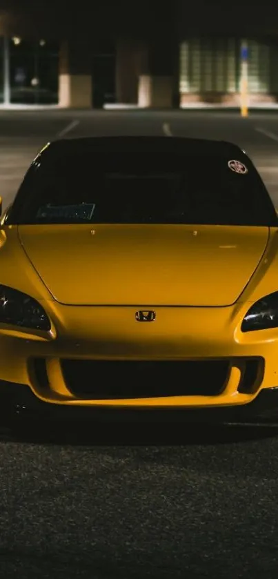
{"label": "wide black central grille opening in the yellow bumper", "polygon": [[79,398],[118,400],[221,393],[228,360],[145,362],[61,360],[67,388]]}

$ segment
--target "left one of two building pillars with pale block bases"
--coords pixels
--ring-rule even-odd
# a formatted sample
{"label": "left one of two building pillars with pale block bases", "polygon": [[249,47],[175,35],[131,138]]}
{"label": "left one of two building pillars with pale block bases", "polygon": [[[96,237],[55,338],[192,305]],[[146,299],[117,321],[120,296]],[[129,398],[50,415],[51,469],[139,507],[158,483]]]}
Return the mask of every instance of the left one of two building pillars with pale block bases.
{"label": "left one of two building pillars with pale block bases", "polygon": [[63,41],[59,61],[59,106],[92,108],[90,45]]}

